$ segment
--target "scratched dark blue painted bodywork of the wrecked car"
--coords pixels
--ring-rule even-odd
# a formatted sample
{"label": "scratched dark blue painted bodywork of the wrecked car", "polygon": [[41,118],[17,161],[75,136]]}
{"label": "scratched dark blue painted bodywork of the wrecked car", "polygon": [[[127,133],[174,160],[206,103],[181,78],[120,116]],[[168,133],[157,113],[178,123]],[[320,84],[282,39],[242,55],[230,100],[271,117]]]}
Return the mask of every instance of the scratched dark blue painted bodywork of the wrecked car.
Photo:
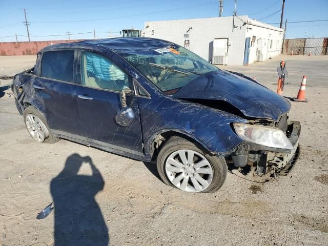
{"label": "scratched dark blue painted bodywork of the wrecked car", "polygon": [[[185,134],[197,141],[209,152],[228,155],[234,151],[242,140],[234,133],[233,122],[248,122],[224,110],[192,103],[188,98],[204,98],[216,101],[226,100],[237,107],[244,116],[252,118],[277,117],[290,109],[284,98],[271,93],[269,89],[229,72],[218,71],[205,74],[191,81],[173,97],[160,92],[144,75],[120,56],[121,52],[132,50],[157,49],[171,45],[170,42],[152,38],[113,38],[96,41],[84,41],[71,44],[49,46],[40,52],[56,49],[87,49],[110,58],[122,70],[135,78],[151,95],[150,98],[131,96],[127,104],[135,113],[135,121],[122,127],[115,122],[115,114],[121,110],[119,94],[103,90],[89,89],[88,93],[97,98],[96,106],[79,103],[76,99],[82,93],[80,65],[75,69],[75,84],[62,83],[40,77],[40,59],[32,73],[21,73],[15,76],[13,87],[22,87],[24,98],[17,99],[20,111],[27,105],[37,108],[47,118],[51,129],[60,137],[90,144],[101,149],[119,153],[139,160],[152,159],[153,141],[159,134],[175,131]],[[49,81],[48,81],[49,80]],[[36,91],[34,84],[42,84],[45,90]],[[64,85],[63,85],[64,84]],[[242,88],[242,89],[240,89]],[[68,107],[69,106],[69,107]],[[87,111],[92,112],[92,117]],[[73,120],[72,120],[73,119]],[[69,133],[68,135],[65,135]],[[72,137],[74,136],[74,137]],[[84,140],[76,140],[81,136]],[[97,140],[97,141],[95,141]],[[101,145],[103,142],[106,145]],[[109,145],[130,150],[113,150]],[[134,153],[137,151],[142,156]]]}

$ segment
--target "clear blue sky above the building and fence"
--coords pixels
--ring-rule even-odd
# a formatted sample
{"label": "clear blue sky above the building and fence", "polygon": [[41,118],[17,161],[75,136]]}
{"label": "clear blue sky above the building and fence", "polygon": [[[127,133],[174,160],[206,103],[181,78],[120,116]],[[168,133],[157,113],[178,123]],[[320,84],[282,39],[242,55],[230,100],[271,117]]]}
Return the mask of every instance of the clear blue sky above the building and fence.
{"label": "clear blue sky above the building and fence", "polygon": [[[234,0],[223,0],[222,16],[234,11]],[[237,0],[237,15],[249,15],[265,23],[280,23],[282,0]],[[92,32],[97,38],[107,37],[109,32],[118,35],[127,28],[142,29],[147,20],[168,20],[218,16],[218,0],[57,0],[57,1],[8,1],[0,0],[0,42],[27,41],[24,26],[24,10],[30,22],[31,40],[67,39],[68,36],[33,37],[36,35],[60,35]],[[277,12],[277,13],[275,13]],[[273,14],[275,13],[275,14]],[[273,15],[272,15],[273,14]],[[272,16],[271,16],[272,15]],[[267,17],[268,18],[264,18]],[[270,17],[271,16],[271,17]],[[284,19],[288,22],[300,20],[328,19],[328,0],[285,0]],[[279,24],[275,24],[279,26]],[[104,32],[104,33],[100,33]],[[23,35],[23,36],[20,36]],[[288,38],[328,37],[328,21],[290,23]],[[72,35],[71,39],[93,38],[93,33]]]}

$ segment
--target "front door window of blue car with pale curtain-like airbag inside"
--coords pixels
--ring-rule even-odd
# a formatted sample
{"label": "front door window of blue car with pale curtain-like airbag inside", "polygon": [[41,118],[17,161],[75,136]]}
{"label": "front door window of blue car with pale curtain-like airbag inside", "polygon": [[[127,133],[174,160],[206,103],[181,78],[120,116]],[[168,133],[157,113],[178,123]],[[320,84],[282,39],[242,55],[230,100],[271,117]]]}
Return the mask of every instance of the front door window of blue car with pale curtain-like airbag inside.
{"label": "front door window of blue car with pale curtain-like airbag inside", "polygon": [[112,91],[133,88],[131,77],[108,58],[85,51],[81,55],[81,81],[85,86]]}

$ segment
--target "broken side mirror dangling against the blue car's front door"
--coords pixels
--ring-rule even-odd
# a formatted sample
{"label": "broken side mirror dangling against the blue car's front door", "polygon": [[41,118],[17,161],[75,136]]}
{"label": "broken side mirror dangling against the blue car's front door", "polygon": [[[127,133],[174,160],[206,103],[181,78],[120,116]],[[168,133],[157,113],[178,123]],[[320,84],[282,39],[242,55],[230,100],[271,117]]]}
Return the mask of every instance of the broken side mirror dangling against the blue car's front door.
{"label": "broken side mirror dangling against the blue car's front door", "polygon": [[120,100],[122,109],[117,112],[115,121],[122,127],[129,126],[135,119],[135,114],[131,107],[127,107],[127,96],[132,96],[133,91],[130,88],[126,88],[120,92]]}

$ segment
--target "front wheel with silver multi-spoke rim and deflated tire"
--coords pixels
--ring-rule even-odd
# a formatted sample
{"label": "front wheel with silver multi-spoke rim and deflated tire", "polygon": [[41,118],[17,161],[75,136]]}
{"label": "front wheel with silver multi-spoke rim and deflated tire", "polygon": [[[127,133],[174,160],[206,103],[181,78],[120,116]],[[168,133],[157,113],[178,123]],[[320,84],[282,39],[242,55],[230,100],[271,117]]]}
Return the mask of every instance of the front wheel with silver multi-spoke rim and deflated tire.
{"label": "front wheel with silver multi-spoke rim and deflated tire", "polygon": [[201,146],[178,136],[165,142],[157,156],[157,171],[163,182],[187,192],[216,192],[226,180],[227,169],[224,157],[212,156]]}

